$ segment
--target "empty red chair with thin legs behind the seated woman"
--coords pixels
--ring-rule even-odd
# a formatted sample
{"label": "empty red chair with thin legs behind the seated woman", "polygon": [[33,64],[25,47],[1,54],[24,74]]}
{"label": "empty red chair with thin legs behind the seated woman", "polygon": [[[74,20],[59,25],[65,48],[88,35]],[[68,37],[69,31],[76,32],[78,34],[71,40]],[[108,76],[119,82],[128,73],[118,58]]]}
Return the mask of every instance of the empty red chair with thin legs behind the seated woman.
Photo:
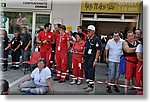
{"label": "empty red chair with thin legs behind the seated woman", "polygon": [[[30,60],[29,61],[24,61],[24,62],[22,62],[22,63],[26,63],[26,64],[29,64],[29,65],[34,65],[34,64],[36,64],[36,62],[37,62],[37,60],[39,59],[39,58],[41,58],[41,54],[40,54],[40,52],[33,52],[32,53],[32,56],[31,56],[31,58],[30,58]],[[26,70],[27,68],[25,68],[25,70],[24,70],[24,74],[26,73]],[[32,69],[31,69],[31,67],[30,67],[30,71],[32,71]]]}

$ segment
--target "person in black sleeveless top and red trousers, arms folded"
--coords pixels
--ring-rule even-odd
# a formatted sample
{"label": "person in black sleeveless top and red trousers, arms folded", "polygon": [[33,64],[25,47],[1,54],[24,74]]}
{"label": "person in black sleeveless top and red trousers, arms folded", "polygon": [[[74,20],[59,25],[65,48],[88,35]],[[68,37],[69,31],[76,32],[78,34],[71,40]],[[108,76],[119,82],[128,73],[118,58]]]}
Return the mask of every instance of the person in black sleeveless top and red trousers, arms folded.
{"label": "person in black sleeveless top and red trousers, arms folded", "polygon": [[[136,75],[136,64],[138,62],[135,49],[139,42],[134,39],[132,30],[127,32],[127,40],[123,42],[123,52],[126,57],[125,85],[128,86],[132,77]],[[128,88],[125,87],[125,94]]]}

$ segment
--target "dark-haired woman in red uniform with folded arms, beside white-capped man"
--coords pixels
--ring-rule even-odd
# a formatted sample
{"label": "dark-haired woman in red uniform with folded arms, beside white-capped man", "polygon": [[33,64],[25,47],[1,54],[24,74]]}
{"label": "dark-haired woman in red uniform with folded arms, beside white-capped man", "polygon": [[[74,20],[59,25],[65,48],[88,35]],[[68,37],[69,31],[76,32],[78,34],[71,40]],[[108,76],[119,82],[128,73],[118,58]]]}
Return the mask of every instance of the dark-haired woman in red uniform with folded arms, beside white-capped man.
{"label": "dark-haired woman in red uniform with folded arms, beside white-capped man", "polygon": [[83,49],[85,42],[83,41],[84,35],[82,33],[76,33],[75,35],[77,41],[74,42],[72,49],[70,50],[72,54],[72,68],[73,68],[73,78],[71,85],[77,82],[77,85],[82,83],[83,78]]}

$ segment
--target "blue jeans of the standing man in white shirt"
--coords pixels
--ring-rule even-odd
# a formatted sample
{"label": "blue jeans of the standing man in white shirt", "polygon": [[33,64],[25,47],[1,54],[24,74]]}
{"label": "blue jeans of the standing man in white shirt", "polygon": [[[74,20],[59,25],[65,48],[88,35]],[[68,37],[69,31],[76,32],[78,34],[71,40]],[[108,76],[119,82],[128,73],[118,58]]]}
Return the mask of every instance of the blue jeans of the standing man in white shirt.
{"label": "blue jeans of the standing man in white shirt", "polygon": [[108,62],[108,80],[113,81],[119,79],[119,63],[118,62]]}

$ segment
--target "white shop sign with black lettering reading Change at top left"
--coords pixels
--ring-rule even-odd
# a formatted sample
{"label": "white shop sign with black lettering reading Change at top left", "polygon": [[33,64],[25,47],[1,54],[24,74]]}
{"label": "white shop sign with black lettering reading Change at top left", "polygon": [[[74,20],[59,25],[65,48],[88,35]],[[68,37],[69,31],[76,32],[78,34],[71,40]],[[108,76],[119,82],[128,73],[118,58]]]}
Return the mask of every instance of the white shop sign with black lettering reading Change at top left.
{"label": "white shop sign with black lettering reading Change at top left", "polygon": [[1,0],[2,8],[51,9],[52,0]]}

